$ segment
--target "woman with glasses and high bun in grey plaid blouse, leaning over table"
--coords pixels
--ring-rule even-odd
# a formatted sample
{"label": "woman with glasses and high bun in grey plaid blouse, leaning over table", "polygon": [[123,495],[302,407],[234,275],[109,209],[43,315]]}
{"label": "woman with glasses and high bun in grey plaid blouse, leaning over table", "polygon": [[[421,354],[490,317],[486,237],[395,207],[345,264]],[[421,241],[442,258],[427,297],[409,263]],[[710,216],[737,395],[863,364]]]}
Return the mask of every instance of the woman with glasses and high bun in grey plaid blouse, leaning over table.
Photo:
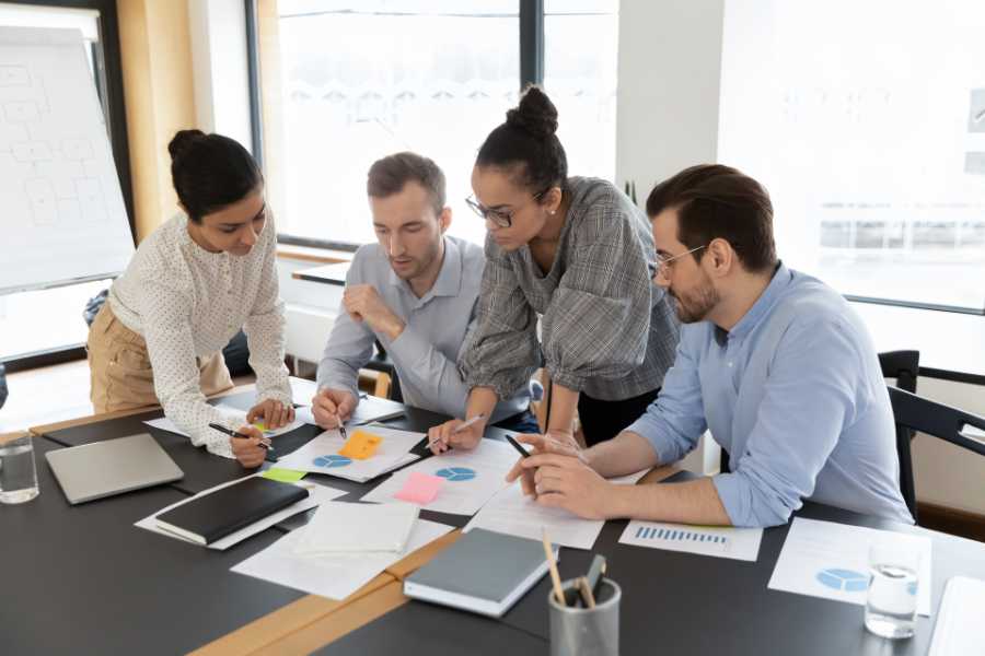
{"label": "woman with glasses and high bun in grey plaid blouse, leaning over table", "polygon": [[[612,184],[568,177],[557,110],[532,86],[479,149],[470,206],[486,222],[478,321],[461,366],[466,418],[488,417],[546,366],[547,433],[570,440],[576,409],[586,442],[615,436],[657,397],[674,359],[677,324],[651,285],[656,255],[644,213]],[[540,330],[538,330],[540,318]],[[484,422],[452,420],[431,447],[468,448]]]}

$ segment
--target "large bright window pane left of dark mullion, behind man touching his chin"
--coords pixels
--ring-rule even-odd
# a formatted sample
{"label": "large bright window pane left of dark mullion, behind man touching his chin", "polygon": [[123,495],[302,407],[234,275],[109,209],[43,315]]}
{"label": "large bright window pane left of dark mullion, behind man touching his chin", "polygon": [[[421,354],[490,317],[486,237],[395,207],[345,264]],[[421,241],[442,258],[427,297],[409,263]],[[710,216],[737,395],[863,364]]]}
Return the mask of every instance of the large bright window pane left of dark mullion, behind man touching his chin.
{"label": "large bright window pane left of dark mullion, behind man touching his chin", "polygon": [[374,239],[370,165],[413,150],[448,178],[452,234],[482,241],[465,206],[483,139],[515,104],[515,0],[281,0],[286,206],[278,230],[332,242]]}

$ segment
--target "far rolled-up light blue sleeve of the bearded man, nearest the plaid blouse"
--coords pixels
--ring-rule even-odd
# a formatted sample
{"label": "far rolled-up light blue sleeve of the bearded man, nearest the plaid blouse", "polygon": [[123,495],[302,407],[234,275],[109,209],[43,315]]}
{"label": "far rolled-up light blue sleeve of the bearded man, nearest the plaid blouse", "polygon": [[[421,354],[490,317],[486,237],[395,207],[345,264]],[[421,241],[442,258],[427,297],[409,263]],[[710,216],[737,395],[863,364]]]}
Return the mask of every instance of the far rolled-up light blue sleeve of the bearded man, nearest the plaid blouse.
{"label": "far rolled-up light blue sleeve of the bearded man, nearest the plaid blouse", "polygon": [[657,400],[627,432],[649,441],[658,462],[676,462],[694,450],[702,433],[708,427],[702,402],[702,383],[697,361],[686,339],[687,328],[677,344],[677,355],[668,370]]}

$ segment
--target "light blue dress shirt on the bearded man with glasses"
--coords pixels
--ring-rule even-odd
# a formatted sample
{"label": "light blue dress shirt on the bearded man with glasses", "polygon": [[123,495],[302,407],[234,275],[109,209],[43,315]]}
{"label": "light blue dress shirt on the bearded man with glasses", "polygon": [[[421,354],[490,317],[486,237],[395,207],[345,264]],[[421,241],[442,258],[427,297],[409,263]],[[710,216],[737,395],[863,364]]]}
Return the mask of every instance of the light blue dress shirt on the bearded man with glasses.
{"label": "light blue dress shirt on the bearded man with glasses", "polygon": [[673,462],[706,429],[730,454],[712,481],[734,526],[785,524],[802,500],[913,524],[874,347],[814,278],[780,265],[732,330],[684,326],[660,397],[627,431]]}

